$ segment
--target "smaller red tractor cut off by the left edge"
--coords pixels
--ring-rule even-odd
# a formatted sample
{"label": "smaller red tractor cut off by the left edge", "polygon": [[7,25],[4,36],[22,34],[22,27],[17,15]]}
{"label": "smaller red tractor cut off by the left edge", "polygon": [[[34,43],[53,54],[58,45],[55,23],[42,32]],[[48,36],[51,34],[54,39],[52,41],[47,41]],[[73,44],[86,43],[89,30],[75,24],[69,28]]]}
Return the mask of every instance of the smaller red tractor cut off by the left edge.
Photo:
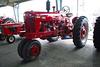
{"label": "smaller red tractor cut off by the left edge", "polygon": [[0,17],[0,40],[6,39],[8,43],[15,41],[15,36],[23,31],[23,24],[15,23],[12,18]]}

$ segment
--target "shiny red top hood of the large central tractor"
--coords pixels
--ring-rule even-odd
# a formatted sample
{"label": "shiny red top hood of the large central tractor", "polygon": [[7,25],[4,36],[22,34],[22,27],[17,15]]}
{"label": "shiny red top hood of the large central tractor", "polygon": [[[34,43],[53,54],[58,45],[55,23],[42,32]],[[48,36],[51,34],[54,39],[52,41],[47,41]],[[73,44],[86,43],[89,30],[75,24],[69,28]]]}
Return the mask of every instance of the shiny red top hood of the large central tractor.
{"label": "shiny red top hood of the large central tractor", "polygon": [[24,19],[41,19],[43,21],[50,21],[53,18],[60,16],[59,12],[34,12],[34,11],[27,11],[24,13]]}

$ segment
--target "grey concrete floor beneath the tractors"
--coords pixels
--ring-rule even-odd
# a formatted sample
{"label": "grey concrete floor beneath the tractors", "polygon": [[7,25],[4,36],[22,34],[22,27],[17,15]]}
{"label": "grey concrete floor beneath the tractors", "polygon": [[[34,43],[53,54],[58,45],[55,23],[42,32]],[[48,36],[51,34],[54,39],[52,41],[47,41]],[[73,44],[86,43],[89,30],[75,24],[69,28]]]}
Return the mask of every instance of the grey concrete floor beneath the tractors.
{"label": "grey concrete floor beneath the tractors", "polygon": [[100,67],[100,53],[92,40],[82,49],[76,49],[72,40],[54,43],[40,40],[42,51],[38,59],[23,63],[17,54],[20,39],[14,44],[0,42],[0,67]]}

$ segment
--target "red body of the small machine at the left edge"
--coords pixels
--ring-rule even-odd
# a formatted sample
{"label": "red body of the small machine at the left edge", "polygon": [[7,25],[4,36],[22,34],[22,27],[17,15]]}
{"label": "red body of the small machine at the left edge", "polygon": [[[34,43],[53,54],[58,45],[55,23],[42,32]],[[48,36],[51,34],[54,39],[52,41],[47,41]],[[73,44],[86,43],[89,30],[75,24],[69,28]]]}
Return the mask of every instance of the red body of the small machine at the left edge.
{"label": "red body of the small machine at the left edge", "polygon": [[5,24],[0,24],[1,26],[1,34],[3,35],[16,35],[20,34],[21,31],[23,31],[23,24],[19,23],[5,23]]}

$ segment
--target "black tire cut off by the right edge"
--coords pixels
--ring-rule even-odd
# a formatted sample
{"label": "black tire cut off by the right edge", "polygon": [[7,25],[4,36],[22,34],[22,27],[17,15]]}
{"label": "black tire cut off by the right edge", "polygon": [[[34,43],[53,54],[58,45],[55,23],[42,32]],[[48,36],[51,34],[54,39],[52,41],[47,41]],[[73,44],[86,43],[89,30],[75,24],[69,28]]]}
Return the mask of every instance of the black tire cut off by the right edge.
{"label": "black tire cut off by the right edge", "polygon": [[96,19],[94,32],[93,32],[94,47],[100,50],[100,17]]}

